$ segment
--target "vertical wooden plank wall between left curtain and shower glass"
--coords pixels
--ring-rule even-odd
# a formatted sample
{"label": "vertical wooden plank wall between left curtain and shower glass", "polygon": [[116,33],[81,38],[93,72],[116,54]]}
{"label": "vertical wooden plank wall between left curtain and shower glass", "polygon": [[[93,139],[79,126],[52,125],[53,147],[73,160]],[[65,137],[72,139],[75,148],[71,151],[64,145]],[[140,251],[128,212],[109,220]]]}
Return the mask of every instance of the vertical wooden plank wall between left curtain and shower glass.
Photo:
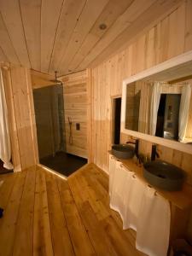
{"label": "vertical wooden plank wall between left curtain and shower glass", "polygon": [[38,162],[31,74],[25,67],[11,66],[3,71],[3,78],[9,108],[12,157],[15,172],[18,172]]}

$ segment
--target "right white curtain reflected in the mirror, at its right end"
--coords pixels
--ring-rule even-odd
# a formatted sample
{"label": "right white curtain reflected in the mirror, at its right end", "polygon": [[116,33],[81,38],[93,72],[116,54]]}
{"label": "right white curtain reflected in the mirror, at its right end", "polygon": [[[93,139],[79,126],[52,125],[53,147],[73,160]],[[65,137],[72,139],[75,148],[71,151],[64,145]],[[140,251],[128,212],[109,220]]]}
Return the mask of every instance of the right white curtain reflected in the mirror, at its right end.
{"label": "right white curtain reflected in the mirror, at its right end", "polygon": [[179,117],[178,117],[178,137],[180,142],[182,142],[184,139],[187,124],[188,124],[190,96],[191,96],[191,86],[190,84],[186,84],[182,88],[182,96],[181,96]]}

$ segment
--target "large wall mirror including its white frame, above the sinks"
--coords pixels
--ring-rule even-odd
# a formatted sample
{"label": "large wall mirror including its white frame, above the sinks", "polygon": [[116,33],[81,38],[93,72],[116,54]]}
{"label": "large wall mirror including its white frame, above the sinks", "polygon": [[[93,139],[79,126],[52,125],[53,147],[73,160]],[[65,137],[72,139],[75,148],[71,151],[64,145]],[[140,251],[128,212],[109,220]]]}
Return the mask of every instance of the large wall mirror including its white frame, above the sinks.
{"label": "large wall mirror including its white frame, above the sinks", "polygon": [[124,133],[192,153],[192,52],[125,79],[121,124]]}

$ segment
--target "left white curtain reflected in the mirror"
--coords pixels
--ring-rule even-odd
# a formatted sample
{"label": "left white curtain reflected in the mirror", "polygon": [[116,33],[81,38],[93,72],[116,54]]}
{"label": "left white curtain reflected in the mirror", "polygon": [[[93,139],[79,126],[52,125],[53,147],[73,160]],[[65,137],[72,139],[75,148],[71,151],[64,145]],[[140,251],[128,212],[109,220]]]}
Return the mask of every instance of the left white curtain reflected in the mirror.
{"label": "left white curtain reflected in the mirror", "polygon": [[152,89],[151,104],[150,104],[150,118],[149,118],[149,134],[155,135],[157,125],[157,113],[160,105],[160,82],[155,82]]}

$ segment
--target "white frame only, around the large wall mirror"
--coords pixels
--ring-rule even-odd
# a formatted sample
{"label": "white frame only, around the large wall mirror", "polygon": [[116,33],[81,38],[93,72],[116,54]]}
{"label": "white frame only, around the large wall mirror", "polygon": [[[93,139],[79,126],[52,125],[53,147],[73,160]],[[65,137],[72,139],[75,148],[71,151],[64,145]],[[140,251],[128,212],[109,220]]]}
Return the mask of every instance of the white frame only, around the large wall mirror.
{"label": "white frame only, around the large wall mirror", "polygon": [[192,154],[192,145],[188,145],[185,143],[179,143],[176,141],[168,140],[162,137],[154,137],[152,135],[148,135],[139,131],[131,131],[125,129],[125,114],[126,114],[126,88],[128,84],[136,82],[137,80],[147,78],[155,73],[160,73],[165,71],[168,68],[176,67],[180,64],[184,64],[185,62],[192,61],[192,50],[173,57],[168,61],[164,61],[154,67],[150,67],[143,72],[137,73],[136,75],[131,76],[128,79],[123,80],[123,87],[122,87],[122,105],[121,105],[121,125],[120,125],[120,132],[125,133],[127,135],[131,135],[133,137],[141,138],[145,141],[149,141],[151,143],[160,144],[162,146],[177,149],[178,151],[182,151],[188,154]]}

